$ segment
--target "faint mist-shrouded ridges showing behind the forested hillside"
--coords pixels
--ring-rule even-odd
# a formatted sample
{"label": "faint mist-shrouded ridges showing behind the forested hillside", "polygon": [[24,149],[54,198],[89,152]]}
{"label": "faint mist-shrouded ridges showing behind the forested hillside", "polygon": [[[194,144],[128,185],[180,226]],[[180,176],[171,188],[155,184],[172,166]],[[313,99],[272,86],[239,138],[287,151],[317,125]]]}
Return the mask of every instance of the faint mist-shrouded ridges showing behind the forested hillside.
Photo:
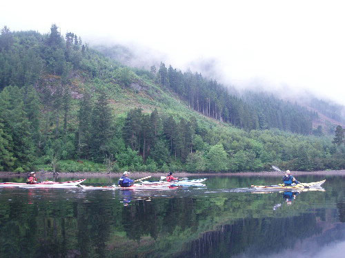
{"label": "faint mist-shrouded ridges showing behind the forested hillside", "polygon": [[[119,61],[124,65],[130,67],[150,69],[152,65],[159,67],[161,62],[168,59],[168,56],[162,53],[155,52],[139,45],[121,45],[112,43],[104,43],[103,45],[92,45],[96,50],[108,56],[109,58]],[[187,68],[181,69],[182,72],[190,70],[191,72],[198,72],[210,80],[217,80],[224,82],[224,78],[219,72],[219,63],[216,59],[204,59],[191,61]],[[178,68],[177,68],[178,69]],[[264,95],[272,95],[277,99],[285,100],[290,103],[295,103],[301,107],[305,107],[310,111],[315,111],[322,116],[322,119],[315,119],[314,127],[322,125],[325,132],[333,133],[334,125],[345,125],[345,106],[339,105],[330,99],[321,99],[315,96],[312,92],[307,90],[296,90],[288,85],[277,87],[262,80],[253,80],[249,85],[238,85],[223,83],[227,92],[239,98],[244,97],[248,92]]]}

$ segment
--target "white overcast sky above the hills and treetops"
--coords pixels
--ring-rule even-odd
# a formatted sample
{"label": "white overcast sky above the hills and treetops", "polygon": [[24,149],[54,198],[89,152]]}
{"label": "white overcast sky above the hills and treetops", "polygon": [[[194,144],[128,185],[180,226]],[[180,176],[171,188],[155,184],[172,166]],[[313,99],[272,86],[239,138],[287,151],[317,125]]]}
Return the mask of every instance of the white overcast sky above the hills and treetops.
{"label": "white overcast sky above the hills and treetops", "polygon": [[[221,83],[306,89],[345,105],[344,1],[1,1],[0,26],[141,45]],[[200,71],[203,72],[204,71]],[[216,73],[214,73],[216,72]]]}

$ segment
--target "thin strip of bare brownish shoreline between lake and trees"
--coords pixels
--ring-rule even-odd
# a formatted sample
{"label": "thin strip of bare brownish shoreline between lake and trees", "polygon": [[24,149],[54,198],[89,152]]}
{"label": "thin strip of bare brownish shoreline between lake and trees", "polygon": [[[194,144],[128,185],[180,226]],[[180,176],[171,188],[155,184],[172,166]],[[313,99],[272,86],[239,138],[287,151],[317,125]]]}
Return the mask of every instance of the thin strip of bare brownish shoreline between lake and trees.
{"label": "thin strip of bare brownish shoreline between lake and trees", "polygon": [[[80,178],[120,178],[122,173],[100,173],[100,172],[76,172],[67,173],[59,172],[58,175],[54,175],[52,172],[44,171],[36,172],[38,176],[44,177],[80,177]],[[291,171],[292,175],[341,175],[345,176],[345,170],[332,170],[332,171]],[[12,178],[12,177],[26,177],[27,173],[15,173],[15,172],[3,172],[0,171],[0,178]],[[167,173],[150,173],[150,172],[130,172],[130,178],[144,178],[151,175],[153,178],[159,178],[166,176]],[[186,177],[201,177],[201,176],[272,176],[278,177],[283,175],[282,172],[278,171],[262,171],[262,172],[238,172],[238,173],[188,173],[188,172],[176,172],[173,175],[177,178]]]}

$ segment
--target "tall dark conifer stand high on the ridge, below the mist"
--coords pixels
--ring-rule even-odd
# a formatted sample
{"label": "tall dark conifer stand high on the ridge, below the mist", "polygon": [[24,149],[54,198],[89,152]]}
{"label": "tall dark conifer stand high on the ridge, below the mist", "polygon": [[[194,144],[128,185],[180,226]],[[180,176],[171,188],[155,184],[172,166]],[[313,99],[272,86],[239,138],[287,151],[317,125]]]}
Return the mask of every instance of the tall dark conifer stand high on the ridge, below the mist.
{"label": "tall dark conifer stand high on the ridge, below the mist", "polygon": [[155,66],[151,67],[157,83],[172,89],[205,116],[242,129],[277,128],[304,135],[313,132],[313,118],[317,118],[317,114],[297,104],[253,92],[246,92],[239,98],[216,80],[190,70],[181,72],[171,65],[166,68],[164,63],[156,70]]}

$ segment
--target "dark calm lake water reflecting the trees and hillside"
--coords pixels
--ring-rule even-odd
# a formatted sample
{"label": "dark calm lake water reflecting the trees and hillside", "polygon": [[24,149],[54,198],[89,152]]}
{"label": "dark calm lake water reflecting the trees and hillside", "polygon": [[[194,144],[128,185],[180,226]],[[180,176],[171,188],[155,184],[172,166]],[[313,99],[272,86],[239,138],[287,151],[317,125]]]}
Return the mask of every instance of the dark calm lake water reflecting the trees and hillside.
{"label": "dark calm lake water reflecting the trees and hillside", "polygon": [[324,191],[248,189],[281,180],[262,176],[169,191],[0,188],[0,257],[344,257],[344,176],[297,179],[326,179]]}

